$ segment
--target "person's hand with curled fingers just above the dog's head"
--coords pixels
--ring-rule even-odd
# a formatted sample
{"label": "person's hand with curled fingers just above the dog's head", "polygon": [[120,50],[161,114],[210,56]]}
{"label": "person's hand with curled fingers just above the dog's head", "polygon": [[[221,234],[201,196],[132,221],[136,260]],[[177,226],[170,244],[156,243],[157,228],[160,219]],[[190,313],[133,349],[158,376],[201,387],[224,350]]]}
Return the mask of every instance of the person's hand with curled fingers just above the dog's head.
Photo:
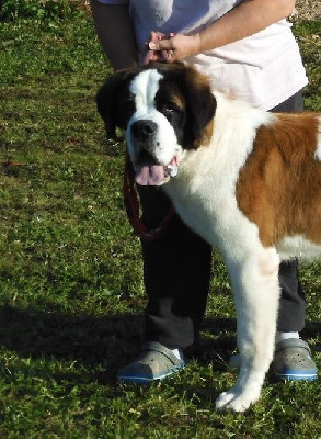
{"label": "person's hand with curled fingers just above the dog's head", "polygon": [[200,52],[199,47],[200,40],[198,34],[188,36],[183,34],[163,35],[159,32],[152,32],[148,42],[149,50],[144,64],[154,60],[167,63],[183,60],[188,56],[198,54]]}

